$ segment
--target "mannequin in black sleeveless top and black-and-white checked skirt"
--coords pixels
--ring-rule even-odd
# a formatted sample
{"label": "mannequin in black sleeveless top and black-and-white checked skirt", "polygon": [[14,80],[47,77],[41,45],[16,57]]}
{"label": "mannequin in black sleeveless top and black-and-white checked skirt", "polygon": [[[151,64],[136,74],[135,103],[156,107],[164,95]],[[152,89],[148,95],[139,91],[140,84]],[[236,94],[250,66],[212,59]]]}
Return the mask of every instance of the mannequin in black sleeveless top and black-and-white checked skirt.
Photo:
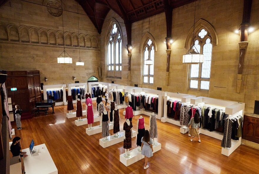
{"label": "mannequin in black sleeveless top and black-and-white checked skirt", "polygon": [[100,118],[100,122],[102,121],[101,126],[102,126],[102,137],[103,137],[102,141],[103,142],[109,141],[109,139],[107,138],[110,135],[110,133],[109,133],[109,123],[110,123],[110,121],[109,120],[110,120],[109,114],[106,110],[104,110],[102,112],[101,118]]}

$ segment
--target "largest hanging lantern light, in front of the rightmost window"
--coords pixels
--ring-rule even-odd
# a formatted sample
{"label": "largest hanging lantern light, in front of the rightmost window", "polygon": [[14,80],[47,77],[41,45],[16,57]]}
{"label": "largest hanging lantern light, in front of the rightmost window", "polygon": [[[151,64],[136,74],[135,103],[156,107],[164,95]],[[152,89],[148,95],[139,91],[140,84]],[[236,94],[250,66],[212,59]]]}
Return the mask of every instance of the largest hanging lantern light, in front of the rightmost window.
{"label": "largest hanging lantern light, in front of the rightmost window", "polygon": [[[194,9],[194,23],[193,23],[193,42],[190,49],[185,55],[182,55],[182,63],[198,64],[203,63],[203,54],[200,54],[194,44],[194,25],[195,25],[195,11],[196,11],[196,1]],[[194,49],[193,49],[194,47]]]}

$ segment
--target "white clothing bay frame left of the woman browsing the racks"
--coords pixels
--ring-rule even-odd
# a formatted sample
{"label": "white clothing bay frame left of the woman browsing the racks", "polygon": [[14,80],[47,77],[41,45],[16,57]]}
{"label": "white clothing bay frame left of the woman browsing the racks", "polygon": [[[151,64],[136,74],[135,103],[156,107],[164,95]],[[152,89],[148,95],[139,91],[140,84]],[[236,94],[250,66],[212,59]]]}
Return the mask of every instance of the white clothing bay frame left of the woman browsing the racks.
{"label": "white clothing bay frame left of the woman browsing the racks", "polygon": [[172,100],[178,100],[181,101],[183,104],[190,103],[191,98],[195,98],[196,96],[192,96],[189,94],[182,94],[182,93],[172,93],[172,92],[165,92],[164,96],[164,114],[163,117],[161,118],[161,122],[169,122],[172,124],[175,124],[177,126],[182,126],[180,125],[180,120],[175,120],[173,118],[167,117],[167,100],[172,99]]}

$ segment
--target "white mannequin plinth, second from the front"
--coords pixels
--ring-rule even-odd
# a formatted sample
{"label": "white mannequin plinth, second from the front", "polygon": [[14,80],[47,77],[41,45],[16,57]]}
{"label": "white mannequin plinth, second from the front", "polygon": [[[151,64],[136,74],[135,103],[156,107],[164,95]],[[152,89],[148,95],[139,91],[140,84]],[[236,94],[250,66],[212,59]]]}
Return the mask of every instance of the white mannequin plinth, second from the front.
{"label": "white mannequin plinth, second from the front", "polygon": [[[115,145],[117,143],[123,142],[124,140],[124,132],[119,132],[120,137],[114,137],[114,135],[110,135],[107,137],[109,141],[103,142],[102,139],[99,139],[99,145],[101,145],[103,148]],[[135,130],[132,130],[132,138],[137,136],[137,132]]]}

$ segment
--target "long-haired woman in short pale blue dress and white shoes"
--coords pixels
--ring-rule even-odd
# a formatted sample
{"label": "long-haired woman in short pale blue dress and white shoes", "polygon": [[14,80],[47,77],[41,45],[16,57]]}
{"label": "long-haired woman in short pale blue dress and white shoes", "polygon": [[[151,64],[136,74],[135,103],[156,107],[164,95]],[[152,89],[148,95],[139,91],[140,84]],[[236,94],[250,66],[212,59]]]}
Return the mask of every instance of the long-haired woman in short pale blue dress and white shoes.
{"label": "long-haired woman in short pale blue dress and white shoes", "polygon": [[153,146],[152,139],[150,138],[148,130],[145,130],[144,137],[141,139],[141,154],[145,156],[145,165],[144,169],[147,169],[149,166],[147,165],[147,161],[149,157],[153,156]]}

